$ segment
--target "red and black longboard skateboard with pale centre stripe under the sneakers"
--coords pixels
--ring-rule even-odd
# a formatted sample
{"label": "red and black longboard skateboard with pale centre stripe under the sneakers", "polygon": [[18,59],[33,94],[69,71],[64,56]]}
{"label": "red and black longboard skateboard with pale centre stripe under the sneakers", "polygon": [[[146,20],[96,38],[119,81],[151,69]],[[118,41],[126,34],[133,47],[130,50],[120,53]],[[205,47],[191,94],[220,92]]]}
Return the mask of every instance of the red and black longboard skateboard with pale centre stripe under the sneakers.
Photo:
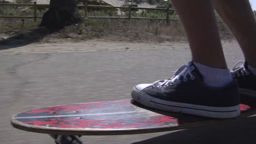
{"label": "red and black longboard skateboard with pale centre stripe under the sneakers", "polygon": [[[243,97],[241,115],[256,113],[256,99]],[[102,101],[27,110],[11,118],[13,127],[45,133],[55,143],[82,144],[82,135],[127,135],[187,129],[231,121],[150,109],[133,100]]]}

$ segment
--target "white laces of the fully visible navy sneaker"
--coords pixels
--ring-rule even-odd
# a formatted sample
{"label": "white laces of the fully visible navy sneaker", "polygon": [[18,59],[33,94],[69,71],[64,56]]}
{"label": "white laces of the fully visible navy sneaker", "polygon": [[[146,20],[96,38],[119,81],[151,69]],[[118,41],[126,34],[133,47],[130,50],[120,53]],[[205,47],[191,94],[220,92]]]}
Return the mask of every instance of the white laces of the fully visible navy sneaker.
{"label": "white laces of the fully visible navy sneaker", "polygon": [[[189,62],[188,65],[183,65],[181,68],[175,71],[174,76],[171,77],[171,79],[166,80],[159,80],[155,81],[152,86],[155,87],[155,84],[158,83],[157,87],[166,87],[166,86],[174,86],[177,83],[181,83],[181,76],[183,76],[183,81],[188,81],[188,75],[190,76],[190,80],[194,80],[195,76],[191,74],[191,71],[195,69],[195,67],[191,66],[192,62]],[[185,69],[183,74],[180,74]]]}

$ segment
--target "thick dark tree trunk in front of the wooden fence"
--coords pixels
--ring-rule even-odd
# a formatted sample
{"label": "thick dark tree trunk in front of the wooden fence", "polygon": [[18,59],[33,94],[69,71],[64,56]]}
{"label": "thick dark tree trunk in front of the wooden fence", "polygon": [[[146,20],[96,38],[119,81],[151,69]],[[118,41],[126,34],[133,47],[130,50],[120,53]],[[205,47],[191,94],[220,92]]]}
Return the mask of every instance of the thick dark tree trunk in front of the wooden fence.
{"label": "thick dark tree trunk in front of the wooden fence", "polygon": [[55,31],[81,21],[76,0],[51,0],[50,8],[44,13],[40,26]]}

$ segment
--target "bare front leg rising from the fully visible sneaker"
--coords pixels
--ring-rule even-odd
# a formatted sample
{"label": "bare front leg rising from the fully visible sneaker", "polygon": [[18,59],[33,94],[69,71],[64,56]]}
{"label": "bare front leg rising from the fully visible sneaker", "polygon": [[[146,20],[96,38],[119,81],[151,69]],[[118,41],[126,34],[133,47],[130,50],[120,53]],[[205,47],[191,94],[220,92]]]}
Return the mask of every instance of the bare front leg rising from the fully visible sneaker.
{"label": "bare front leg rising from the fully visible sneaker", "polygon": [[219,31],[210,0],[172,0],[190,44],[194,62],[226,69]]}

